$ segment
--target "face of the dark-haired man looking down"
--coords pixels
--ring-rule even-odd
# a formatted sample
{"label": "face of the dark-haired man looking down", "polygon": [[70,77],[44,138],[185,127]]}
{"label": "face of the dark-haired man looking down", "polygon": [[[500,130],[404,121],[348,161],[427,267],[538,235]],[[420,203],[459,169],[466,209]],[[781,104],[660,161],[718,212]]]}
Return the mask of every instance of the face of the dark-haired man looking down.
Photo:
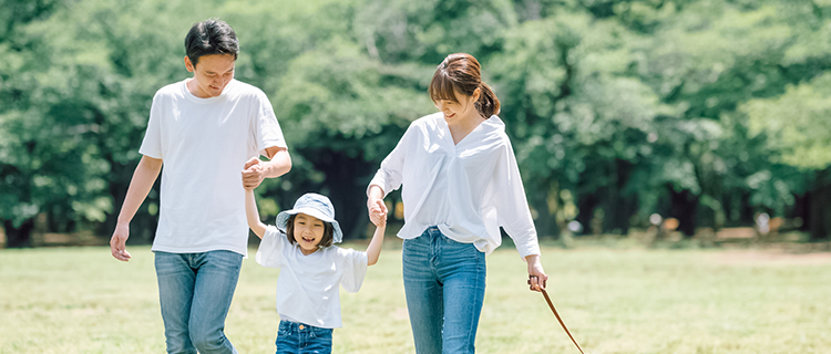
{"label": "face of the dark-haired man looking down", "polygon": [[193,73],[187,83],[187,90],[199,98],[216,97],[223,93],[225,86],[234,79],[234,55],[212,54],[201,56],[196,65],[185,56],[185,67]]}

